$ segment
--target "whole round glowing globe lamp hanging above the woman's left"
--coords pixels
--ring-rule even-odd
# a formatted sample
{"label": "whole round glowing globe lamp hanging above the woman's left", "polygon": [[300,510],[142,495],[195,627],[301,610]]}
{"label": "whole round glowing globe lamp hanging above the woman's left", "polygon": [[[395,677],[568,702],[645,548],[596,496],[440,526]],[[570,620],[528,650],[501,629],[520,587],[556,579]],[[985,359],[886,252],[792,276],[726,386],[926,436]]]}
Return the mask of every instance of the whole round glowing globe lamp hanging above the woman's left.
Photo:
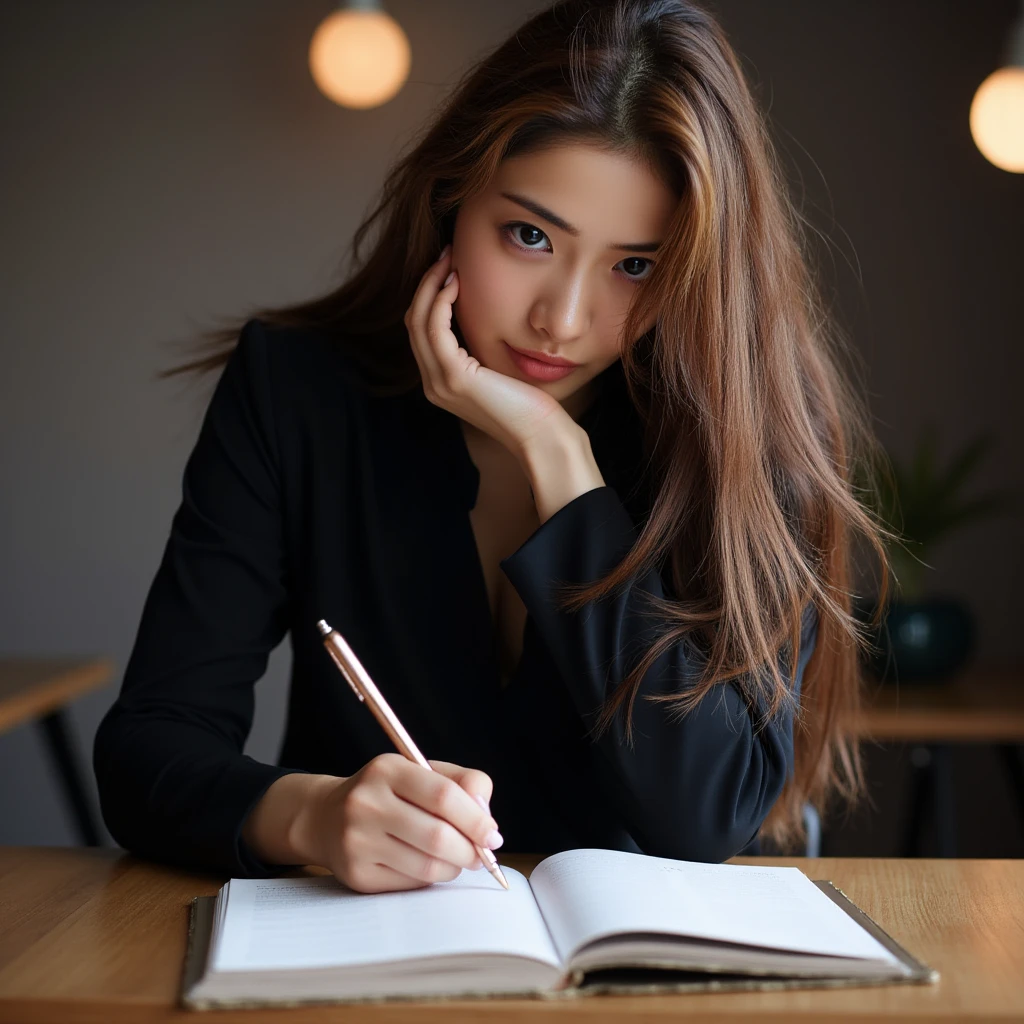
{"label": "whole round glowing globe lamp hanging above the woman's left", "polygon": [[401,26],[374,3],[329,14],[309,43],[313,81],[342,106],[365,110],[386,103],[404,84],[410,63]]}

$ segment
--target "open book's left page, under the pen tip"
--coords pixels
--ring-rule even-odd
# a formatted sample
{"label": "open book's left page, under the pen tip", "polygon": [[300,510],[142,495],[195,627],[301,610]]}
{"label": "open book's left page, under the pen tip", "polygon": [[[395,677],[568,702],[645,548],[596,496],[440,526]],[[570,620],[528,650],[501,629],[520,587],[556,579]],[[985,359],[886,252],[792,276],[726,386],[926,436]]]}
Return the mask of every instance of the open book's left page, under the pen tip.
{"label": "open book's left page, under the pen tip", "polygon": [[332,876],[231,879],[216,971],[315,968],[444,954],[508,953],[559,966],[529,883],[486,868],[393,893],[357,893]]}

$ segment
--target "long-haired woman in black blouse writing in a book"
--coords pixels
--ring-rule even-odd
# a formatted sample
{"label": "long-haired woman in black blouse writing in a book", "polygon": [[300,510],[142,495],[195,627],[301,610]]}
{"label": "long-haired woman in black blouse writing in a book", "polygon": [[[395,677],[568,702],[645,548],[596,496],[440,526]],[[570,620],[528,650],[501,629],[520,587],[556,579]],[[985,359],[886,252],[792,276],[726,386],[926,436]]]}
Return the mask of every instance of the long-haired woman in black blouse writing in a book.
{"label": "long-haired woman in black blouse writing in a book", "polygon": [[[876,447],[770,153],[708,13],[566,0],[467,74],[348,281],[179,368],[223,372],[96,737],[122,845],[372,892],[502,834],[720,861],[858,797]],[[354,701],[322,617],[436,771]],[[286,633],[263,765],[242,750]]]}

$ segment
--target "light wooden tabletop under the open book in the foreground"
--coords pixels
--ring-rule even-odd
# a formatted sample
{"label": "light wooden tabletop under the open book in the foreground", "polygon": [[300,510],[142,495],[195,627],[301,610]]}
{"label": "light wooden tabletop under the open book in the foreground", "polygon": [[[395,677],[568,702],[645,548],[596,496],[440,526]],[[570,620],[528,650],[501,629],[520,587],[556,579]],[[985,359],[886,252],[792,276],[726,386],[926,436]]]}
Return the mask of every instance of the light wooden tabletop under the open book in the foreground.
{"label": "light wooden tabletop under the open book in the foreground", "polygon": [[[499,860],[528,874],[538,858]],[[830,879],[911,954],[933,985],[782,992],[593,996],[307,1007],[176,1009],[187,907],[225,879],[175,870],[102,849],[0,847],[0,1021],[127,1024],[459,1024],[481,1019],[688,1024],[772,1021],[1024,1020],[1024,861],[736,857]],[[294,873],[294,872],[293,872]]]}

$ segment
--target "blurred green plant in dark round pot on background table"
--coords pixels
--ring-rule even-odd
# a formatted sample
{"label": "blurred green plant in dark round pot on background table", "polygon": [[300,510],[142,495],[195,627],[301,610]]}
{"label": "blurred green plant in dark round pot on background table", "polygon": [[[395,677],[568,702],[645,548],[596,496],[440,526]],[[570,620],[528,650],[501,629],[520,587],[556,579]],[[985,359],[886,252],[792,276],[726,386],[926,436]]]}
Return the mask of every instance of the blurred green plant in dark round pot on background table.
{"label": "blurred green plant in dark round pot on background table", "polygon": [[[934,428],[926,428],[908,463],[886,455],[870,468],[866,503],[898,540],[887,545],[895,575],[879,625],[868,670],[886,682],[938,681],[968,660],[975,646],[975,621],[965,602],[935,593],[929,573],[932,553],[956,529],[1013,506],[1007,492],[970,498],[967,484],[991,447],[990,432],[969,441],[945,466],[939,464]],[[870,622],[878,600],[858,602]]]}

